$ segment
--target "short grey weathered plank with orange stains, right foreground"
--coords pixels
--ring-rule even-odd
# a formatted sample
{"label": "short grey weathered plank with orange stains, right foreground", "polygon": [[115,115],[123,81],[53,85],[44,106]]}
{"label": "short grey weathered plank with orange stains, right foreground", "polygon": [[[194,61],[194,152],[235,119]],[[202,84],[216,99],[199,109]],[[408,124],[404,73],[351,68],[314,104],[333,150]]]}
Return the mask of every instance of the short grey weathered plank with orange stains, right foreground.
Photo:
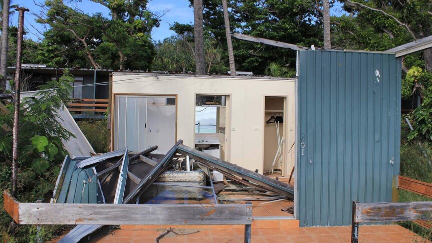
{"label": "short grey weathered plank with orange stains, right foreground", "polygon": [[354,222],[397,222],[432,219],[432,201],[356,203]]}

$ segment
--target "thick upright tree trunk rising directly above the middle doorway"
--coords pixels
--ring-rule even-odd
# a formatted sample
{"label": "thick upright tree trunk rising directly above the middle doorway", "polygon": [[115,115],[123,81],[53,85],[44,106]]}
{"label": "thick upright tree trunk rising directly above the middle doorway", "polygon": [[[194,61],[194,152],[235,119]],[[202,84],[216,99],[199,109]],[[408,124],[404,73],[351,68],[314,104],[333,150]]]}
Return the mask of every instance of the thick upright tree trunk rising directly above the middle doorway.
{"label": "thick upright tree trunk rising directly above the middle doorway", "polygon": [[196,74],[205,74],[204,27],[202,22],[202,0],[193,0],[193,39],[195,41]]}

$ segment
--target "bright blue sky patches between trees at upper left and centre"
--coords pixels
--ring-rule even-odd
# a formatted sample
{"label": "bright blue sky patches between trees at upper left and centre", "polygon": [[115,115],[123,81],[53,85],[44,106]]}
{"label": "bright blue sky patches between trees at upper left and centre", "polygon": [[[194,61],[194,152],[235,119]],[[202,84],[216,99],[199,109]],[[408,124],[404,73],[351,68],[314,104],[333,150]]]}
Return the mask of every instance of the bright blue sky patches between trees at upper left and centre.
{"label": "bright blue sky patches between trees at upper left and centre", "polygon": [[[41,11],[38,5],[42,5],[44,2],[45,0],[12,0],[11,3],[11,5],[19,4],[22,7],[30,9],[30,12],[27,12],[25,15],[24,27],[28,32],[26,38],[30,38],[34,41],[40,41],[43,38],[41,33],[44,32],[45,27],[44,25],[36,23],[35,19],[37,18],[36,15],[39,15]],[[65,0],[65,3],[68,2],[69,1]],[[87,14],[102,13],[102,15],[106,17],[109,16],[109,10],[107,8],[89,0],[82,0],[81,2],[73,1],[69,5],[75,5]],[[174,32],[169,30],[169,27],[174,24],[174,22],[180,24],[190,24],[193,22],[193,9],[189,8],[189,1],[187,0],[154,0],[149,1],[147,7],[153,13],[168,11],[168,13],[161,18],[160,27],[153,28],[152,30],[151,36],[155,41],[162,41],[173,35]],[[11,18],[11,24],[17,26],[17,22],[18,14],[15,14]]]}

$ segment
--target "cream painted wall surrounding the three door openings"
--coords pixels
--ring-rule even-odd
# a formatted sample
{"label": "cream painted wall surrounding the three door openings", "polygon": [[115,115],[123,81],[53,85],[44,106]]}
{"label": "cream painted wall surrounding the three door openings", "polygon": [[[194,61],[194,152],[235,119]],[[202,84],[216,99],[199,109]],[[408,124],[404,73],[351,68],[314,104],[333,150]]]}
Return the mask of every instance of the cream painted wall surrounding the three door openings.
{"label": "cream painted wall surrounding the three door openings", "polygon": [[[264,97],[287,97],[288,120],[284,122],[286,144],[295,140],[295,80],[229,78],[229,77],[179,77],[150,74],[112,75],[113,94],[177,95],[177,139],[194,146],[195,95],[229,95],[232,130],[227,127],[226,137],[231,137],[231,160],[250,170],[263,172],[264,157]],[[113,110],[113,109],[112,109]],[[256,131],[258,130],[258,131]],[[175,141],[172,141],[174,144]],[[287,147],[285,153],[288,152]],[[295,149],[285,156],[289,175],[294,166]]]}

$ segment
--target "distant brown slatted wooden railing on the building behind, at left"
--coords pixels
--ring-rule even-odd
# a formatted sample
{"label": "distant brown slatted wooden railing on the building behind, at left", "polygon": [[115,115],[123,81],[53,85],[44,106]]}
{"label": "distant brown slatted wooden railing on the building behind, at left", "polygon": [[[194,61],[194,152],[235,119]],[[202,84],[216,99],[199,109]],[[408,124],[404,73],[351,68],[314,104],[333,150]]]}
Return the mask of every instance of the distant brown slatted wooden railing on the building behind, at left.
{"label": "distant brown slatted wooden railing on the building behind, at left", "polygon": [[67,104],[67,108],[73,116],[101,116],[107,111],[108,99],[74,99]]}

